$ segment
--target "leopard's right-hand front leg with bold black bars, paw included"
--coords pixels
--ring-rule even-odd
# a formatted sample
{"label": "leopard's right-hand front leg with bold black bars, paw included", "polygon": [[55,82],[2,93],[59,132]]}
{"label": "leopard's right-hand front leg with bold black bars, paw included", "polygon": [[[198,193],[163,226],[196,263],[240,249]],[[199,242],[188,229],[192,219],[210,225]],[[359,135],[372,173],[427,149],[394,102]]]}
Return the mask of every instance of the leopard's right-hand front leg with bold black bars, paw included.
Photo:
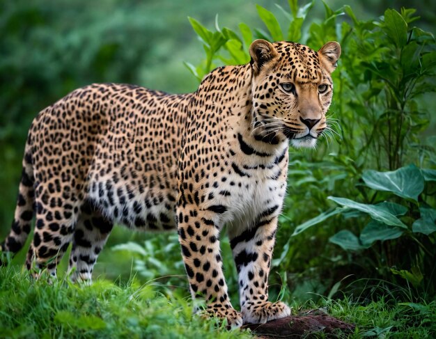
{"label": "leopard's right-hand front leg with bold black bars, paw included", "polygon": [[268,301],[268,275],[276,230],[277,216],[265,218],[265,212],[250,228],[239,233],[229,230],[244,323],[264,324],[290,315],[285,303]]}

